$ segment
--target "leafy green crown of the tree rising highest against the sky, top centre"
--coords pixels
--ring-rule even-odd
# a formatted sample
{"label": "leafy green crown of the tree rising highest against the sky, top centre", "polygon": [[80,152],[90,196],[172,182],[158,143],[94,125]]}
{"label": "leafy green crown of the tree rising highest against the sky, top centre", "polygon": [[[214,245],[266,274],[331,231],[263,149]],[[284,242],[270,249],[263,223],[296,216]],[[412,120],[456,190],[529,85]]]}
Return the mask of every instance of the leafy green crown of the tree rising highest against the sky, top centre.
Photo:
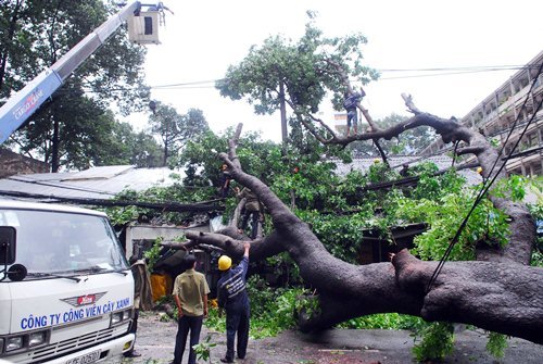
{"label": "leafy green crown of the tree rising highest against the sky, top centre", "polygon": [[238,64],[230,65],[223,79],[216,83],[220,95],[232,100],[243,98],[254,105],[257,114],[272,114],[288,100],[298,116],[301,112],[316,113],[328,92],[332,104],[342,109],[342,72],[365,85],[377,79],[378,73],[364,66],[362,46],[367,42],[361,34],[327,38],[312,16],[305,34],[296,41],[273,36],[260,47],[253,46]]}

